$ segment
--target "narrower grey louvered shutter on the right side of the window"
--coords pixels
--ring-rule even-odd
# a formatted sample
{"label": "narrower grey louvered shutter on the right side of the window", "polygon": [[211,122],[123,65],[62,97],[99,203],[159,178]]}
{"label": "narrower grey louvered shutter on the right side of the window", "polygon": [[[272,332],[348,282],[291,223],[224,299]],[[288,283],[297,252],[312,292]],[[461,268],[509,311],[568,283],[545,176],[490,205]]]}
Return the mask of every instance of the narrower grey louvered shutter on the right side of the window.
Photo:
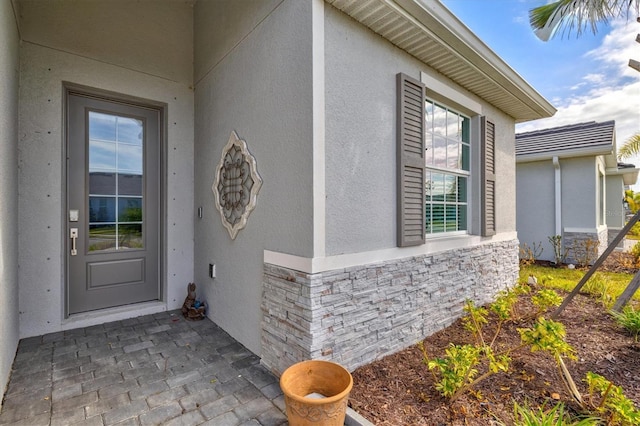
{"label": "narrower grey louvered shutter on the right side of the window", "polygon": [[482,180],[482,236],[496,233],[496,132],[486,117],[480,118],[481,180]]}

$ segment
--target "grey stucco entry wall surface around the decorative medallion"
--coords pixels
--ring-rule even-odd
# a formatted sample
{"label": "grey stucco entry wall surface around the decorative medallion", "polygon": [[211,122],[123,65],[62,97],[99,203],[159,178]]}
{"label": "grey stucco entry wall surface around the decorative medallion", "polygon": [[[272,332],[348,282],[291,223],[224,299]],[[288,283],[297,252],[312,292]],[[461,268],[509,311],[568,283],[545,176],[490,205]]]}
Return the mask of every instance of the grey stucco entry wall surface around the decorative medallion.
{"label": "grey stucco entry wall surface around the decorative medallion", "polygon": [[[195,98],[195,205],[203,217],[195,224],[195,279],[209,316],[260,353],[263,251],[313,256],[311,2],[283,1],[273,10],[257,2],[212,3],[196,4],[197,22],[209,22],[218,7],[229,16],[268,15],[239,20],[230,32],[196,25],[203,77]],[[211,190],[232,131],[246,141],[263,180],[235,240]],[[207,275],[210,262],[214,280]]]}

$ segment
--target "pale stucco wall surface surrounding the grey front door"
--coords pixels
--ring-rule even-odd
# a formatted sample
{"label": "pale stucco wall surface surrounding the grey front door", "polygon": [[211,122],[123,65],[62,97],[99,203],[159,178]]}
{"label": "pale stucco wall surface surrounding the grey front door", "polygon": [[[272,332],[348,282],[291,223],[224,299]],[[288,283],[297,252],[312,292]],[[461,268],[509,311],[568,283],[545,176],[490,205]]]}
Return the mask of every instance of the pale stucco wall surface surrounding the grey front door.
{"label": "pale stucco wall surface surrounding the grey front door", "polygon": [[[21,49],[19,250],[20,335],[34,336],[96,322],[64,318],[63,82],[167,105],[166,256],[163,309],[181,306],[193,280],[193,92],[189,85],[101,60],[23,42]],[[157,308],[156,308],[157,309]]]}

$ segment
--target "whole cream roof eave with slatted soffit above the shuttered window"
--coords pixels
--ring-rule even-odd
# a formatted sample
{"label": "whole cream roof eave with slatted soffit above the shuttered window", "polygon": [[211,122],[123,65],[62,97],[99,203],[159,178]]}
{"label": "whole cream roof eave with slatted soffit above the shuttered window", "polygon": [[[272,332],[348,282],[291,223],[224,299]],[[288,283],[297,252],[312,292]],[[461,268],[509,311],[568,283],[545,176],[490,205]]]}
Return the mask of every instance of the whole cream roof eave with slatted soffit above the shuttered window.
{"label": "whole cream roof eave with slatted soffit above the shuttered window", "polygon": [[518,122],[556,109],[437,0],[325,0]]}

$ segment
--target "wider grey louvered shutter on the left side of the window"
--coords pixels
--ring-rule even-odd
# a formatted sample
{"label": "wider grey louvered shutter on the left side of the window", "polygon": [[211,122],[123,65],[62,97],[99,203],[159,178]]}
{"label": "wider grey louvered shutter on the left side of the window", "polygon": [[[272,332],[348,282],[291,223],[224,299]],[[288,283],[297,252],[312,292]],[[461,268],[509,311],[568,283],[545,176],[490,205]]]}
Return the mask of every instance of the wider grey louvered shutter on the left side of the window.
{"label": "wider grey louvered shutter on the left side of the window", "polygon": [[398,74],[397,185],[399,247],[424,244],[424,85]]}

